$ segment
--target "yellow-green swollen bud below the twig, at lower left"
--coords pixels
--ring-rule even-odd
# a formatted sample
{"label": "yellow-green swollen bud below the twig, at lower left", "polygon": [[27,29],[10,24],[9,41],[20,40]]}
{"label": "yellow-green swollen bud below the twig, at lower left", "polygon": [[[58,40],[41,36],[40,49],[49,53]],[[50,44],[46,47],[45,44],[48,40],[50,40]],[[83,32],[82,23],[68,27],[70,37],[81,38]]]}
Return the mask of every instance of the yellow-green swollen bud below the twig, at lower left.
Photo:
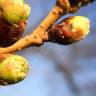
{"label": "yellow-green swollen bud below the twig, at lower left", "polygon": [[28,62],[24,57],[9,55],[0,62],[0,85],[10,85],[22,81],[28,71]]}

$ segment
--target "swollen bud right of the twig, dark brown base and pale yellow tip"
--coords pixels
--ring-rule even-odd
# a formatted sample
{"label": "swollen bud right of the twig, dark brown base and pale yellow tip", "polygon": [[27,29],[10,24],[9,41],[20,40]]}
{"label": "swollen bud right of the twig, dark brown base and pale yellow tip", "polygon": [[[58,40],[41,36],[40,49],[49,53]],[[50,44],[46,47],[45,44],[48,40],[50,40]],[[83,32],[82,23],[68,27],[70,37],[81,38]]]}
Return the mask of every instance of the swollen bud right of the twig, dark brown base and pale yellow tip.
{"label": "swollen bud right of the twig, dark brown base and pale yellow tip", "polygon": [[60,44],[72,44],[87,36],[90,29],[89,19],[72,16],[49,29],[49,41]]}

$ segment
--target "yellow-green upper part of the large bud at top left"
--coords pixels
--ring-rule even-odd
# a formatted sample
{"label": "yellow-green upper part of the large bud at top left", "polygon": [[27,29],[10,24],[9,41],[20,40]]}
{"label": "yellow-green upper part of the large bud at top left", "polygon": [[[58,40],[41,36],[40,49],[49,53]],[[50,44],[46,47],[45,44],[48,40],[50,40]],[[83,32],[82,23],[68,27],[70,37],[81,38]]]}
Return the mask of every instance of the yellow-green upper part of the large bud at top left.
{"label": "yellow-green upper part of the large bud at top left", "polygon": [[0,0],[0,7],[6,21],[17,24],[20,20],[27,20],[30,15],[30,6],[24,0]]}

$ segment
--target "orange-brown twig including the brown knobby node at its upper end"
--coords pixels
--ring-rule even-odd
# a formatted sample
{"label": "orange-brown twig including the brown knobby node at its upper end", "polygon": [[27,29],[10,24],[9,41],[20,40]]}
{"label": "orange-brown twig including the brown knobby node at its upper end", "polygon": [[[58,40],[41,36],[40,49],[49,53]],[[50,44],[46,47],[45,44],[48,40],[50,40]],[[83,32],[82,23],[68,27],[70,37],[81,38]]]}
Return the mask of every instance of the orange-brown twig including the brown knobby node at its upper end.
{"label": "orange-brown twig including the brown knobby node at its upper end", "polygon": [[[80,0],[79,0],[80,1]],[[82,1],[82,0],[81,0]],[[75,1],[74,1],[75,2]],[[83,1],[82,1],[83,2]],[[80,3],[80,2],[79,2]],[[49,40],[48,30],[49,28],[63,15],[67,13],[72,13],[72,8],[70,0],[57,0],[56,5],[49,12],[48,16],[41,22],[41,24],[29,35],[21,38],[16,43],[9,47],[1,47],[0,53],[14,53],[16,51],[21,51],[22,49],[29,46],[42,45],[45,41]],[[76,7],[76,6],[75,6]],[[77,6],[77,10],[78,10]],[[70,11],[71,10],[71,11]]]}

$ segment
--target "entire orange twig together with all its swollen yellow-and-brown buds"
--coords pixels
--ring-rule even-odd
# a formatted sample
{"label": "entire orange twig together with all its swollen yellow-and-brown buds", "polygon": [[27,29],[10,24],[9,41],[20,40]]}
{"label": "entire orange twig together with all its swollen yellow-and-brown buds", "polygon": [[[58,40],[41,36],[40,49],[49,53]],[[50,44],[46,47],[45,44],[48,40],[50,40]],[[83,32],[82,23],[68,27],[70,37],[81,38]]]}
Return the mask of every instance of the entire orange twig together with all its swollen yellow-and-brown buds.
{"label": "entire orange twig together with all its swollen yellow-and-brown buds", "polygon": [[24,0],[0,0],[0,46],[4,46],[0,48],[0,85],[20,82],[29,71],[28,62],[24,57],[9,53],[30,45],[42,45],[45,41],[65,45],[85,38],[90,30],[90,21],[86,17],[71,16],[57,24],[54,23],[64,14],[77,12],[80,7],[93,1],[96,0],[57,0],[39,27],[30,35],[18,40],[26,27],[30,6],[25,4]]}

